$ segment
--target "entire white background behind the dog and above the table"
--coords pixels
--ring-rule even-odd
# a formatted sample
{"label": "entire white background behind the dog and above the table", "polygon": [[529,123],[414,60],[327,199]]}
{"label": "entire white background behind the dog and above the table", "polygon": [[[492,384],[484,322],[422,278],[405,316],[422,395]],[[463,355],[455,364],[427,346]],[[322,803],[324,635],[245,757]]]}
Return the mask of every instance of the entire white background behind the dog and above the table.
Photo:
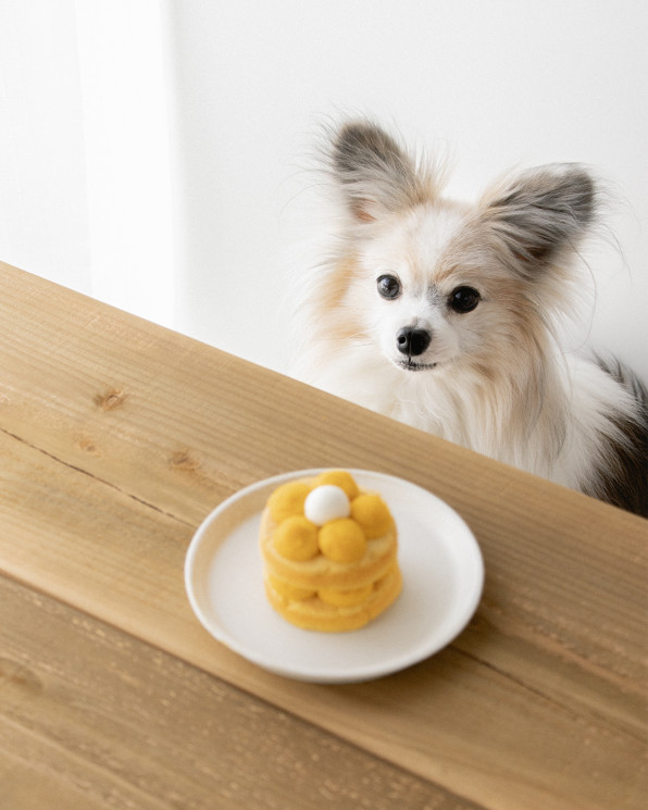
{"label": "entire white background behind the dog and above the table", "polygon": [[648,381],[647,41],[645,0],[1,0],[0,259],[286,371],[307,155],[365,112],[462,198],[595,166],[590,344]]}

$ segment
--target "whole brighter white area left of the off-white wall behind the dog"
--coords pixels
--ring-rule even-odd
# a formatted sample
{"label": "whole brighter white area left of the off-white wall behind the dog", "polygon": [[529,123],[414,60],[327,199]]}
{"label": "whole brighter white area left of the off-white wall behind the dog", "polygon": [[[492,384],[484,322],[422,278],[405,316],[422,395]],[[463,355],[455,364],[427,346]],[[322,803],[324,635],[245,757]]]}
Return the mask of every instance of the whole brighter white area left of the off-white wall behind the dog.
{"label": "whole brighter white area left of the off-white wall behind the dog", "polygon": [[0,259],[173,326],[161,0],[0,0]]}

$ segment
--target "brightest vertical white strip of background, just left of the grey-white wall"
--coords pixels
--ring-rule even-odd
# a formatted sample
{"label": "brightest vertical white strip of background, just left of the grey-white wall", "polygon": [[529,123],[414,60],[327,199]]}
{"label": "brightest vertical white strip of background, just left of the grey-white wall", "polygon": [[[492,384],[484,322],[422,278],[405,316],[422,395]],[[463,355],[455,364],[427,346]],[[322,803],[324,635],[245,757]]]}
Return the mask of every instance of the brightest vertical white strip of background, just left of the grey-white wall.
{"label": "brightest vertical white strip of background, just left of the grey-white wall", "polygon": [[175,325],[170,110],[159,0],[75,0],[91,295]]}

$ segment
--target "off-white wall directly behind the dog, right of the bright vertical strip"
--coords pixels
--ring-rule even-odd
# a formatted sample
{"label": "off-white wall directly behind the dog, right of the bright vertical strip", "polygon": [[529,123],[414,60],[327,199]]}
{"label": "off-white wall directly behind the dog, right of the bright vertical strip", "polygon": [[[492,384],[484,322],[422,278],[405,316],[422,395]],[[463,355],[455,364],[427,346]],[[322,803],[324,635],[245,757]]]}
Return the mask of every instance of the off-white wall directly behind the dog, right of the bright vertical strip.
{"label": "off-white wall directly behind the dog, right of the bright vertical strip", "polygon": [[[365,111],[450,150],[472,196],[583,161],[625,200],[593,328],[648,379],[645,0],[170,0],[179,324],[283,369],[284,242],[319,121]],[[296,196],[297,195],[297,196]]]}

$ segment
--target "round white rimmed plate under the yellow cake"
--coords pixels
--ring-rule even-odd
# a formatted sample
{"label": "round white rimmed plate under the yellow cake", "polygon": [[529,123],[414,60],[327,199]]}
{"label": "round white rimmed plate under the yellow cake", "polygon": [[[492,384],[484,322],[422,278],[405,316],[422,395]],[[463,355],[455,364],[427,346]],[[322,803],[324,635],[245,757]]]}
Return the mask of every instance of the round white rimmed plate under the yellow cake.
{"label": "round white rimmed plate under the yellow cake", "polygon": [[185,562],[185,585],[196,615],[235,652],[300,681],[367,681],[437,652],[473,615],[484,563],[457,512],[402,478],[350,471],[362,488],[383,496],[398,526],[403,588],[394,605],[361,630],[319,633],[292,626],[267,602],[259,549],[261,512],[277,486],[320,472],[302,470],[259,482],[208,515]]}

